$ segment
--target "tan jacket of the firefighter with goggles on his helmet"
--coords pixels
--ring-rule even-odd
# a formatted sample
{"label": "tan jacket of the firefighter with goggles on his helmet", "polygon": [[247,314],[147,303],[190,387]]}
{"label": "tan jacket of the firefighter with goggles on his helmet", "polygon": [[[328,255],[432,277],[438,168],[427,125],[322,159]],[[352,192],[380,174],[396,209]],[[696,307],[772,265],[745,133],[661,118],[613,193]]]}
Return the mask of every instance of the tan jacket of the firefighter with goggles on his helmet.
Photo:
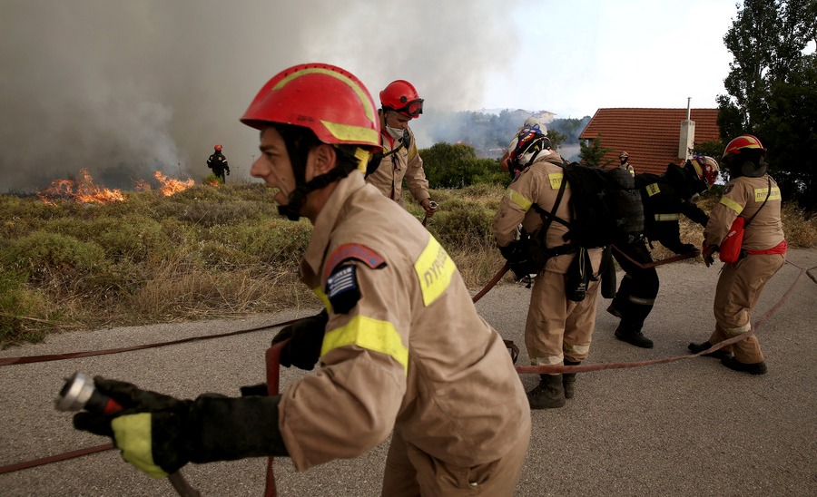
{"label": "tan jacket of the firefighter with goggles on his helmet", "polygon": [[[399,146],[399,140],[393,140],[386,133],[381,133],[380,141],[383,142],[383,153],[387,154],[380,160],[377,171],[372,172],[366,181],[374,185],[380,192],[400,205],[403,202],[403,178],[406,179],[408,190],[415,200],[421,202],[429,199],[428,180],[426,172],[423,170],[423,160],[417,151],[417,141],[414,139],[414,132],[408,128],[408,135],[411,143],[406,147]],[[398,149],[394,153],[389,153]]]}

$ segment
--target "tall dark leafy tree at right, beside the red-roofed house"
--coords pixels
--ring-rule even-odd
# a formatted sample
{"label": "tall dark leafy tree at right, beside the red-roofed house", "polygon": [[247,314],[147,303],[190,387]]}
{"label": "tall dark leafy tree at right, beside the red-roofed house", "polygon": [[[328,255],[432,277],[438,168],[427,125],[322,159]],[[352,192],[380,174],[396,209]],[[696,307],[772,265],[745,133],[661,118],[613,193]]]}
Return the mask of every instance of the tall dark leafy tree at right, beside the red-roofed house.
{"label": "tall dark leafy tree at right, beside the red-roofed house", "polygon": [[783,197],[814,209],[817,195],[817,0],[744,0],[723,36],[733,54],[718,95],[718,126],[727,142],[756,135],[768,149]]}

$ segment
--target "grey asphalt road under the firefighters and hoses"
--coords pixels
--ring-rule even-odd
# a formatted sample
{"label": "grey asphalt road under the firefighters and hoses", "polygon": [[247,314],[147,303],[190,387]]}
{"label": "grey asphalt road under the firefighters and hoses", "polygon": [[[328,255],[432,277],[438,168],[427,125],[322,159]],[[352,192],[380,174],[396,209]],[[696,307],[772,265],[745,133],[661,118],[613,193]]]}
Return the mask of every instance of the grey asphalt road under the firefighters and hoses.
{"label": "grey asphalt road under the firefighters and hoses", "polygon": [[[817,266],[817,250],[792,250],[801,268]],[[661,291],[645,333],[650,350],[613,338],[617,321],[600,299],[596,334],[585,364],[684,356],[714,326],[712,301],[719,263],[681,262],[658,268]],[[770,281],[753,320],[792,287],[801,269],[785,265]],[[477,288],[478,289],[478,288]],[[529,290],[506,285],[478,303],[480,314],[522,346]],[[533,413],[533,434],[517,495],[817,495],[817,284],[803,275],[790,297],[758,329],[769,373],[735,373],[712,358],[605,369],[578,375],[576,397],[561,409]],[[306,316],[276,316],[66,333],[44,344],[0,351],[36,356],[219,334]],[[74,371],[126,379],[166,394],[238,395],[262,381],[263,352],[274,330],[93,356],[0,367],[0,466],[109,442],[74,431],[71,414],[54,410],[64,378]],[[523,359],[524,360],[524,359]],[[521,363],[520,363],[521,364]],[[286,387],[302,373],[283,370]],[[521,375],[526,389],[536,375]],[[339,420],[342,423],[342,420]],[[296,473],[276,460],[279,494],[377,495],[388,441],[356,459]],[[261,495],[264,459],[190,464],[183,473],[203,495]],[[0,474],[0,495],[174,495],[106,451]]]}

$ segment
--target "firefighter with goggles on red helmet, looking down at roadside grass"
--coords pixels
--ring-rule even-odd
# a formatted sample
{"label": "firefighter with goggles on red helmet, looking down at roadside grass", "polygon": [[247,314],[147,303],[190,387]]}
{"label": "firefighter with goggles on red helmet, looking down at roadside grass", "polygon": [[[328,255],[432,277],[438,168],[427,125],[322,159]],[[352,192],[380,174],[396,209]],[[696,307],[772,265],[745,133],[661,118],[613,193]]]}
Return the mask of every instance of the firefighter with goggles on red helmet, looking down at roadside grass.
{"label": "firefighter with goggles on red helmet, looking down at roadside grass", "polygon": [[423,113],[423,99],[411,83],[397,80],[389,83],[380,92],[380,141],[383,153],[376,166],[369,171],[366,181],[377,187],[389,199],[405,205],[403,200],[403,179],[408,190],[431,218],[437,210],[437,202],[428,195],[428,180],[423,170],[423,160],[417,151],[414,132],[408,122]]}

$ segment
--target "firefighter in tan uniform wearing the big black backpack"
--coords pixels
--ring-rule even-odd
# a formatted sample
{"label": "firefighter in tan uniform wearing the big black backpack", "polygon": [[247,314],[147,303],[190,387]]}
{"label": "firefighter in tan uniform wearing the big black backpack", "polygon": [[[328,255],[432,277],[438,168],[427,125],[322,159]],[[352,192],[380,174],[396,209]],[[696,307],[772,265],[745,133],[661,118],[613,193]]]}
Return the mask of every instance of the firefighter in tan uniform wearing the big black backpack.
{"label": "firefighter in tan uniform wearing the big black backpack", "polygon": [[[499,201],[493,220],[493,234],[503,257],[517,278],[536,273],[531,290],[525,325],[525,345],[531,365],[578,365],[589,354],[596,324],[598,281],[590,281],[585,298],[576,302],[568,298],[568,269],[577,248],[566,246],[565,225],[553,222],[544,227],[537,209],[552,211],[563,178],[562,158],[551,147],[550,140],[537,130],[525,128],[508,147],[508,164],[516,179]],[[569,221],[570,189],[559,202],[556,216]],[[543,268],[532,265],[523,239],[517,239],[517,227],[531,238],[546,229],[544,238],[546,262]],[[564,250],[564,253],[562,251]],[[584,253],[584,252],[582,252]],[[592,271],[597,277],[601,248],[588,250]],[[575,393],[576,374],[540,375],[539,384],[527,393],[532,409],[562,407]]]}

